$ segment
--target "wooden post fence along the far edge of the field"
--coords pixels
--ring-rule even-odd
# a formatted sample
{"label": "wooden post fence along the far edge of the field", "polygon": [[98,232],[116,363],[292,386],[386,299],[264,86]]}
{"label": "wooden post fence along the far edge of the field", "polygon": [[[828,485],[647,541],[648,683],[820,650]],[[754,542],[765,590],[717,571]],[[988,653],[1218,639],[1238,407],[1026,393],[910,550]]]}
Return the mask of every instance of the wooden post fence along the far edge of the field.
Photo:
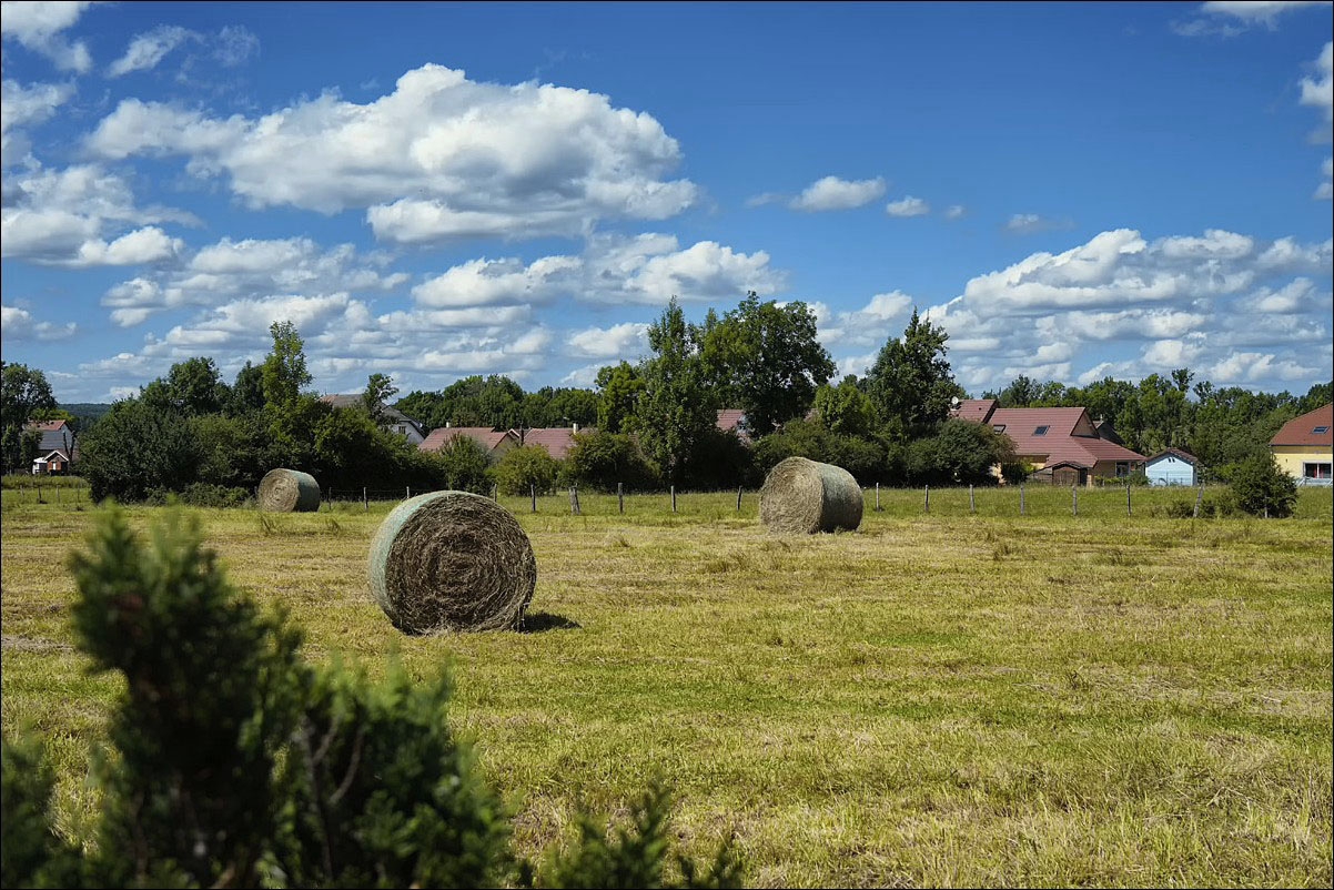
{"label": "wooden post fence along the far edge of the field", "polygon": [[[960,512],[966,511],[967,515],[976,515],[978,514],[979,500],[986,502],[986,506],[987,506],[986,512],[990,514],[990,515],[1006,515],[1006,514],[1011,514],[1011,515],[1018,515],[1018,516],[1029,516],[1029,515],[1058,515],[1058,514],[1063,514],[1065,512],[1065,510],[1062,510],[1062,508],[1043,510],[1042,506],[1039,506],[1039,512],[1034,514],[1033,512],[1034,504],[1030,503],[1030,500],[1031,500],[1030,494],[1031,492],[1029,491],[1029,487],[1023,482],[1021,482],[1021,483],[1018,483],[1015,486],[986,486],[986,487],[982,488],[980,492],[972,484],[967,486],[966,488],[967,488],[967,506],[966,506],[966,508],[963,507],[962,503],[959,503],[958,506],[960,507]],[[1078,486],[1078,484],[1071,484],[1070,486],[1069,515],[1071,515],[1071,516],[1078,516],[1079,515],[1079,488],[1081,488],[1081,486]],[[875,483],[874,486],[867,486],[867,487],[862,488],[863,498],[866,498],[867,500],[871,502],[870,503],[871,510],[874,510],[875,512],[884,512],[884,510],[886,510],[886,504],[883,503],[882,491],[880,490],[882,490],[882,486],[879,483]],[[962,498],[962,491],[963,490],[964,490],[964,486],[946,486],[943,488],[938,487],[936,491],[932,492],[931,491],[931,486],[930,484],[924,484],[920,488],[886,488],[886,492],[891,494],[891,495],[894,492],[898,492],[898,495],[902,496],[903,494],[907,494],[910,491],[918,491],[920,494],[919,503],[920,503],[920,511],[922,511],[923,515],[930,515],[932,512],[932,510],[931,510],[931,506],[932,506],[931,500],[932,500],[932,494],[934,494],[935,495],[935,502],[936,502],[935,503],[935,507],[936,507],[935,512],[938,515],[948,516],[948,515],[956,515],[951,510],[951,504],[954,503],[952,498],[950,496],[951,492],[960,492],[960,498]],[[1041,486],[1039,487],[1039,491],[1046,491],[1046,490],[1051,490],[1053,492],[1055,492],[1055,491],[1059,491],[1061,487],[1058,487],[1058,486]],[[1122,490],[1125,491],[1125,498],[1126,498],[1126,500],[1125,500],[1125,504],[1126,504],[1126,516],[1134,516],[1135,515],[1134,486],[1131,486],[1129,483],[1121,484],[1121,486],[1111,486],[1111,484],[1109,484],[1109,486],[1099,486],[1097,488],[1093,488],[1087,494],[1087,498],[1090,498],[1091,500],[1089,500],[1086,503],[1086,507],[1089,507],[1089,508],[1093,510],[1093,514],[1090,514],[1090,515],[1095,515],[1098,512],[1106,512],[1107,508],[1109,508],[1109,506],[1110,506],[1110,503],[1111,503],[1111,499],[1114,496],[1119,496],[1119,494],[1121,494]],[[1189,488],[1187,487],[1181,487],[1181,490],[1183,492],[1194,490],[1195,498],[1194,498],[1194,504],[1193,504],[1193,508],[1191,508],[1191,515],[1194,518],[1198,518],[1199,516],[1199,511],[1201,511],[1201,504],[1202,504],[1202,500],[1203,500],[1203,495],[1205,495],[1205,486],[1198,484],[1198,486],[1190,486]],[[418,494],[423,494],[423,491],[424,490],[419,490]],[[1158,496],[1158,498],[1161,498],[1162,494],[1166,494],[1166,491],[1162,490],[1162,488],[1146,488],[1146,491],[1153,491],[1154,492],[1153,496]],[[759,494],[758,490],[750,490],[750,492],[752,495],[758,495]],[[616,499],[615,500],[615,511],[618,514],[620,514],[620,515],[624,515],[626,514],[626,503],[627,503],[626,484],[622,483],[622,482],[618,482],[616,483],[616,490],[615,490],[614,494],[615,494],[615,499]],[[716,492],[694,491],[694,492],[691,492],[691,491],[678,491],[676,486],[668,486],[666,491],[639,491],[639,492],[631,494],[630,498],[636,504],[643,504],[643,503],[646,503],[648,500],[656,500],[656,499],[660,498],[659,503],[662,504],[663,512],[678,514],[683,508],[687,508],[687,506],[690,504],[690,502],[695,496],[710,495],[710,494],[711,495],[719,495],[719,494],[722,494],[722,491],[716,491]],[[738,488],[736,488],[736,507],[735,507],[736,512],[742,512],[743,511],[743,507],[744,507],[744,503],[746,503],[746,494],[747,494],[746,487],[744,486],[738,486]],[[519,503],[523,503],[523,500],[527,500],[528,502],[526,504],[527,506],[527,511],[531,512],[531,514],[538,514],[538,512],[543,512],[539,508],[540,503],[547,503],[552,498],[562,498],[562,491],[560,491],[560,487],[558,486],[555,488],[539,492],[536,490],[536,486],[531,486],[530,484],[528,486],[528,491],[526,492],[527,496],[524,496],[523,494],[519,494],[519,495],[502,495],[500,490],[499,490],[499,486],[496,486],[495,483],[492,483],[488,495],[490,495],[490,498],[492,500],[495,500],[498,503],[500,503],[502,500],[519,500]],[[604,491],[604,492],[599,492],[599,495],[606,496],[606,498],[611,498],[612,492],[611,491]],[[324,503],[325,503],[325,508],[327,510],[332,510],[335,502],[339,502],[339,503],[360,502],[363,511],[367,511],[367,512],[370,511],[370,504],[371,504],[372,500],[376,502],[376,503],[384,503],[384,502],[402,502],[402,500],[407,500],[407,499],[411,499],[411,498],[412,498],[412,487],[411,486],[404,486],[403,488],[370,488],[370,487],[362,487],[362,488],[336,488],[336,487],[329,487],[324,492]],[[1002,503],[1005,503],[1005,502],[1011,503],[1013,507],[1010,510],[1005,510],[1003,507],[1000,510],[996,510],[996,499],[998,498],[1002,499]],[[579,486],[574,484],[574,486],[564,487],[563,499],[566,502],[566,506],[563,508],[558,507],[556,512],[568,512],[568,515],[574,515],[574,516],[583,515],[583,502],[580,499]],[[1051,499],[1050,498],[1043,498],[1043,499],[1039,499],[1039,502],[1045,502],[1045,503],[1050,504]],[[1101,510],[1099,510],[1099,504],[1101,504]],[[902,502],[899,502],[899,506],[900,506],[900,511],[902,511]],[[515,510],[519,511],[519,510],[522,510],[522,507],[515,507]],[[1086,512],[1087,512],[1087,510],[1086,510]]]}

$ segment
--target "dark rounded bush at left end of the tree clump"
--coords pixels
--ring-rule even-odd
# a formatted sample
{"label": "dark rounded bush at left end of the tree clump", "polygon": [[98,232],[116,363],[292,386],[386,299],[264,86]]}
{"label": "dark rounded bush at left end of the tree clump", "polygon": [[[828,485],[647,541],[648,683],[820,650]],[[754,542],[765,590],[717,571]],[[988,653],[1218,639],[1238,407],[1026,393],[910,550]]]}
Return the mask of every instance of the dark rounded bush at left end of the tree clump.
{"label": "dark rounded bush at left end of the tree clump", "polygon": [[93,499],[143,500],[153,488],[180,491],[195,479],[197,443],[169,411],[117,402],[80,440],[80,472]]}

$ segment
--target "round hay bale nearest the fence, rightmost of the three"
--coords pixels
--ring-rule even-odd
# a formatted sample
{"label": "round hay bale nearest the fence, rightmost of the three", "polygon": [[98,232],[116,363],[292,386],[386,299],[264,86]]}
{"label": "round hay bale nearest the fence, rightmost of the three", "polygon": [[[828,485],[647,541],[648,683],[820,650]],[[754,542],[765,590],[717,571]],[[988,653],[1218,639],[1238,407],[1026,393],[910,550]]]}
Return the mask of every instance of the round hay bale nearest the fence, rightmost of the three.
{"label": "round hay bale nearest the fence, rightmost of the three", "polygon": [[764,478],[759,519],[770,531],[851,531],[862,524],[862,488],[843,467],[788,458]]}

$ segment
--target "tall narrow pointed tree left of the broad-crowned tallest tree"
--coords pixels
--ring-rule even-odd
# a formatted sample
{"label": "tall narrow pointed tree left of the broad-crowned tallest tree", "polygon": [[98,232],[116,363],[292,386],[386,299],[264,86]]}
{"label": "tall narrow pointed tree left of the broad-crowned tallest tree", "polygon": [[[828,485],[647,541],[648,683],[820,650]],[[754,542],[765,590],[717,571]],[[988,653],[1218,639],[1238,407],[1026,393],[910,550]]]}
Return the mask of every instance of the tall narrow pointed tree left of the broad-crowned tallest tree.
{"label": "tall narrow pointed tree left of the broad-crowned tallest tree", "polygon": [[699,330],[686,322],[676,298],[648,328],[654,358],[640,367],[644,391],[634,431],[667,482],[679,483],[699,440],[716,428],[718,404],[699,355]]}

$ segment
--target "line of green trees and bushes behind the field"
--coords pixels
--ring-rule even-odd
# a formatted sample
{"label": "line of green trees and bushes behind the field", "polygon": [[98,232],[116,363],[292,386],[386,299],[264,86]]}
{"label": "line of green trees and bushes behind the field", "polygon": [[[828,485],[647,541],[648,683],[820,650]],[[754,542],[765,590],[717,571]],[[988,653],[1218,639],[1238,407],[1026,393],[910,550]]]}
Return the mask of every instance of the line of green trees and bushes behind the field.
{"label": "line of green trees and bushes behind the field", "polygon": [[[265,359],[247,363],[231,384],[212,359],[187,359],[85,424],[77,471],[93,495],[155,500],[179,492],[196,503],[229,503],[276,466],[305,470],[325,487],[490,492],[498,484],[512,494],[559,484],[755,486],[794,455],[842,466],[863,484],[988,484],[996,466],[1011,479],[1027,470],[1005,435],[950,419],[951,402],[968,394],[954,379],[948,335],[915,310],[866,375],[836,382],[811,308],[751,292],[724,314],[710,310],[699,324],[672,299],[648,327],[648,355],[600,368],[590,390],[527,392],[502,375],[468,376],[392,402],[427,430],[586,428],[563,462],[530,446],[494,466],[467,436],[424,452],[388,432],[384,411],[398,390],[383,374],[370,376],[352,408],[321,402],[308,391],[295,326],[277,322],[269,334]],[[1111,422],[1127,447],[1146,455],[1183,448],[1206,474],[1223,478],[1267,452],[1279,426],[1329,402],[1330,391],[1329,383],[1303,395],[1215,388],[1179,368],[1139,383],[1109,376],[1085,387],[1019,376],[983,398],[1000,407],[1086,407]],[[722,408],[744,412],[744,440],[718,428]],[[59,408],[41,372],[5,366],[7,468],[31,462],[23,420],[53,414]]]}

